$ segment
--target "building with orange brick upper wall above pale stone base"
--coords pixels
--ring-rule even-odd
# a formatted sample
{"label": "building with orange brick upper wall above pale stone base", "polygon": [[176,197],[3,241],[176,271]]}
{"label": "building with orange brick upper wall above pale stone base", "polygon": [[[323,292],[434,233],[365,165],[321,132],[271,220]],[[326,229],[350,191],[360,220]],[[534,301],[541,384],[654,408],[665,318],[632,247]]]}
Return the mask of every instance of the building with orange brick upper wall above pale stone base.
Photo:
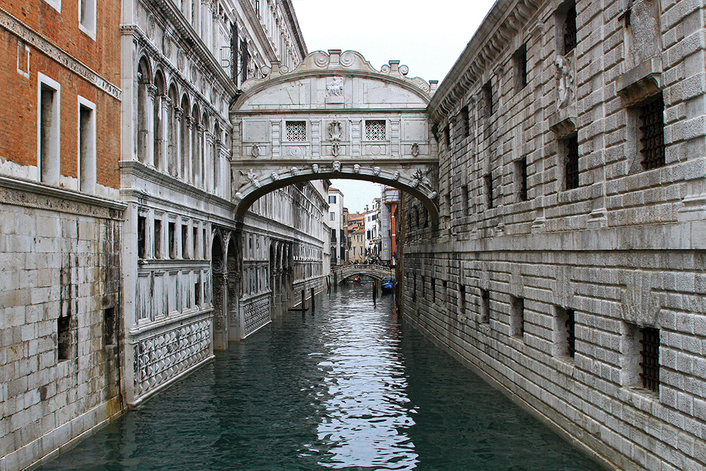
{"label": "building with orange brick upper wall above pale stone base", "polygon": [[119,14],[0,1],[3,471],[122,408]]}

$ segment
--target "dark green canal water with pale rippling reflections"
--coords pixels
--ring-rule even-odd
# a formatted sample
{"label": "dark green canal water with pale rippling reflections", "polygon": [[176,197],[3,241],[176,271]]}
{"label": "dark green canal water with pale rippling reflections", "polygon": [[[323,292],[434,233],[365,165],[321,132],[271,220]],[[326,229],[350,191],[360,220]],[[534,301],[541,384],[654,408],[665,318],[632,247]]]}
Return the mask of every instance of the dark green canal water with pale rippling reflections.
{"label": "dark green canal water with pale rippling reflections", "polygon": [[41,467],[595,471],[501,393],[373,304],[316,297]]}

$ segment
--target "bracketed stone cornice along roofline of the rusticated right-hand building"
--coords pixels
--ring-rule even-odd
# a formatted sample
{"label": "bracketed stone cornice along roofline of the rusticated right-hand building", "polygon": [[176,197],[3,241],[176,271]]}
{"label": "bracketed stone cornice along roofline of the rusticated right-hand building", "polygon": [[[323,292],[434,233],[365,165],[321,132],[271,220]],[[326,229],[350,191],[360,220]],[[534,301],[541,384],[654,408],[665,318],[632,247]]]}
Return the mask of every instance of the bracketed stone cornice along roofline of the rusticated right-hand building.
{"label": "bracketed stone cornice along roofline of the rusticated right-hand building", "polygon": [[542,0],[498,0],[481,23],[429,103],[429,113],[440,123],[457,102],[499,59],[515,35],[537,13]]}

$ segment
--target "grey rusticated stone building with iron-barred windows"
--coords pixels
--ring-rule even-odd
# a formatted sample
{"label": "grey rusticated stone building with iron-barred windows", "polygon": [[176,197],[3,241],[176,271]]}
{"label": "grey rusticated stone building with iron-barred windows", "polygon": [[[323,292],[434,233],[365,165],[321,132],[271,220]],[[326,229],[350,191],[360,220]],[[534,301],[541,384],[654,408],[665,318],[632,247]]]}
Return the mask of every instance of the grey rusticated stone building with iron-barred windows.
{"label": "grey rusticated stone building with iron-barred windows", "polygon": [[405,208],[405,316],[620,470],[706,469],[704,13],[499,0]]}

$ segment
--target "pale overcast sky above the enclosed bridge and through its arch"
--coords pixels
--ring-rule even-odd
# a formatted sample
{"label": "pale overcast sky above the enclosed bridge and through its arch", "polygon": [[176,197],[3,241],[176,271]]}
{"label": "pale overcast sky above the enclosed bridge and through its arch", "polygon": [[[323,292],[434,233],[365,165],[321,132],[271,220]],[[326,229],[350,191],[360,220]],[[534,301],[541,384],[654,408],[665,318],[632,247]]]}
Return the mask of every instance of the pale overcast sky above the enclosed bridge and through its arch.
{"label": "pale overcast sky above the enclosed bridge and through its arch", "polygon": [[[443,78],[471,40],[494,0],[292,0],[309,52],[354,50],[380,70],[390,60],[408,77]],[[336,180],[345,206],[362,211],[380,197],[368,181]]]}

